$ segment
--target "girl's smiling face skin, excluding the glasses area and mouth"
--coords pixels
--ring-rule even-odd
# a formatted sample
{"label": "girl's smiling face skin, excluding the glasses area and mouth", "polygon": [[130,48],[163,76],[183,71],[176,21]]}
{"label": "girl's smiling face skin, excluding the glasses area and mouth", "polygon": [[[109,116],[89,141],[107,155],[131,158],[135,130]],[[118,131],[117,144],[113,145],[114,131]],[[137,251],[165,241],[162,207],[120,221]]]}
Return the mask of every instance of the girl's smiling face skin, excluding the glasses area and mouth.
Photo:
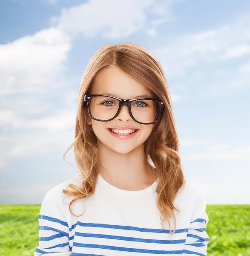
{"label": "girl's smiling face skin, excluding the glasses area and mouth", "polygon": [[[139,95],[148,95],[152,97],[152,93],[148,91],[143,84],[130,78],[124,71],[115,67],[106,67],[101,70],[95,77],[90,94],[115,94],[121,99],[135,99]],[[138,147],[144,147],[144,142],[152,132],[155,124],[142,125],[129,114],[127,106],[122,106],[120,113],[115,119],[108,122],[101,122],[89,117],[87,109],[85,109],[87,124],[92,125],[92,129],[97,137],[98,147],[108,147],[118,153],[126,154]],[[138,131],[129,138],[120,138],[113,136],[108,128],[115,126],[131,126]],[[123,128],[121,128],[123,129]]]}

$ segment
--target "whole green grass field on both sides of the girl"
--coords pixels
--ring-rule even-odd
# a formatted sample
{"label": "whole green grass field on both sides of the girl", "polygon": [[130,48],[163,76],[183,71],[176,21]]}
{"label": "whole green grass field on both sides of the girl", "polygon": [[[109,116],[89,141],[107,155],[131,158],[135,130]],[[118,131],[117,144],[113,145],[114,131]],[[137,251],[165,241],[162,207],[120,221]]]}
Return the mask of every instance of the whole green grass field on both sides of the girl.
{"label": "whole green grass field on both sides of the girl", "polygon": [[[0,205],[0,256],[34,256],[40,205]],[[250,256],[250,205],[207,205],[207,256]]]}

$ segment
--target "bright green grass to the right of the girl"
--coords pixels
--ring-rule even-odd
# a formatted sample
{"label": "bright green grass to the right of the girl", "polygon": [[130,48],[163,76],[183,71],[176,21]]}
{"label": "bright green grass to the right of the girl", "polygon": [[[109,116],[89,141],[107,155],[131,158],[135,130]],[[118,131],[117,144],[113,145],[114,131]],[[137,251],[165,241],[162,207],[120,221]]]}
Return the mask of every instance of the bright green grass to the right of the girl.
{"label": "bright green grass to the right of the girl", "polygon": [[250,205],[207,205],[207,256],[250,256]]}

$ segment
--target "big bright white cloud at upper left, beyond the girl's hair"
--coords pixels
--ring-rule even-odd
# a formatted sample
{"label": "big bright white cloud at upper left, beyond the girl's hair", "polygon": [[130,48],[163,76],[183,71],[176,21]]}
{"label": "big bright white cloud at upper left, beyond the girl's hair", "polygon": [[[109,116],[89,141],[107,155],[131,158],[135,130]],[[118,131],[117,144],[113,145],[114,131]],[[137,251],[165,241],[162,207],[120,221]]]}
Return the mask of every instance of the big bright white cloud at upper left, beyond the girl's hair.
{"label": "big bright white cloud at upper left, beyond the girl's hair", "polygon": [[0,45],[0,96],[14,93],[44,93],[60,86],[71,48],[67,35],[50,28]]}

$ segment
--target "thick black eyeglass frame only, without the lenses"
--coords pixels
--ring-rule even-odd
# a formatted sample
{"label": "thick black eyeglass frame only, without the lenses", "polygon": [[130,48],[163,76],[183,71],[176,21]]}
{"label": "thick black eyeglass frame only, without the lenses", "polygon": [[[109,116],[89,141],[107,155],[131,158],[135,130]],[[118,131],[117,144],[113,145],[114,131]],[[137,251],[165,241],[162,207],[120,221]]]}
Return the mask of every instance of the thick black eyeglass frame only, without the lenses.
{"label": "thick black eyeglass frame only, without the lenses", "polygon": [[[94,98],[95,96],[106,96],[106,97],[109,97],[109,98],[112,98],[112,99],[117,99],[118,102],[119,102],[119,108],[118,108],[118,111],[117,113],[115,114],[115,116],[113,116],[111,119],[108,119],[108,120],[101,120],[101,119],[97,119],[95,117],[93,117],[91,115],[91,112],[90,112],[90,101],[92,98]],[[142,100],[142,99],[151,99],[151,100],[154,100],[158,103],[158,107],[159,107],[159,112],[158,112],[158,116],[157,116],[157,119],[154,121],[154,122],[150,122],[150,123],[144,123],[144,122],[139,122],[137,121],[133,114],[132,114],[132,111],[131,111],[131,103],[134,102],[135,100]],[[139,124],[143,124],[143,125],[151,125],[151,124],[154,124],[158,121],[159,117],[160,117],[160,114],[161,114],[161,110],[162,108],[164,107],[164,103],[161,102],[160,100],[158,99],[153,99],[153,98],[137,98],[137,99],[120,99],[120,98],[117,98],[117,97],[114,97],[114,96],[110,96],[110,95],[105,95],[105,94],[85,94],[84,95],[84,102],[87,102],[87,106],[88,106],[88,112],[89,112],[89,116],[94,119],[94,120],[97,120],[97,121],[101,121],[101,122],[109,122],[113,119],[115,119],[116,116],[118,116],[118,114],[120,113],[121,111],[121,107],[123,105],[126,105],[128,108],[129,108],[129,114],[130,116],[132,117],[133,120],[135,120],[135,122],[138,122]]]}

